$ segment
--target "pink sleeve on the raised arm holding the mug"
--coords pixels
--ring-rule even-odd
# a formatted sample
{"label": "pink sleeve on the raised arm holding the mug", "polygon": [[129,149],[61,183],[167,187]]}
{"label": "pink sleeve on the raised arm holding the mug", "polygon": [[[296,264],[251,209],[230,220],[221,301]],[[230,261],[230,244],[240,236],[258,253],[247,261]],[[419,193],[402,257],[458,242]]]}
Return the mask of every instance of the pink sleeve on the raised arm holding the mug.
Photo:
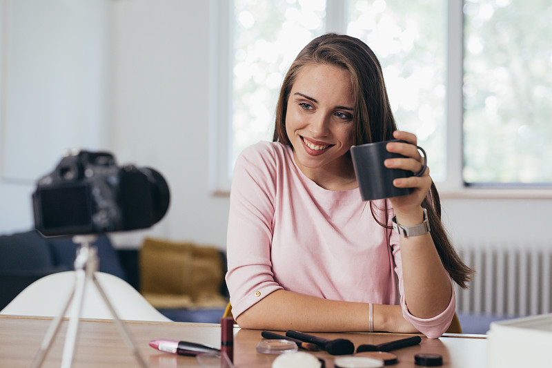
{"label": "pink sleeve on the raised arm holding the mug", "polygon": [[[391,222],[389,223],[391,224]],[[402,315],[404,318],[411,323],[418,331],[423,333],[428,338],[439,338],[442,334],[449,329],[451,322],[454,317],[456,309],[456,297],[454,293],[453,281],[449,276],[449,281],[451,282],[451,300],[449,305],[444,311],[433,318],[418,318],[413,316],[410,311],[408,311],[408,306],[406,305],[406,300],[404,298],[404,282],[402,275],[402,258],[400,251],[400,235],[393,231],[390,235],[391,248],[393,249],[393,258],[395,260],[395,273],[397,273],[397,278],[399,281],[399,293],[400,293],[400,304],[402,307]]]}

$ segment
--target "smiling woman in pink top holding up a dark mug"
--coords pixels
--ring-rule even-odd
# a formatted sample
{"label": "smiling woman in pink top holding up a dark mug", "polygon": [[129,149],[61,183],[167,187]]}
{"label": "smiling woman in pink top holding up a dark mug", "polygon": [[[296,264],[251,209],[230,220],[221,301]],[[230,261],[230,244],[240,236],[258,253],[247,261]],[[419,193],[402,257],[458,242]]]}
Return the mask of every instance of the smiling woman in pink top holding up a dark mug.
{"label": "smiling woman in pink top holding up a dark mug", "polygon": [[[465,287],[471,270],[446,237],[429,170],[393,182],[410,195],[359,195],[349,148],[389,139],[411,144],[387,144],[408,158],[385,165],[420,171],[416,137],[397,130],[373,51],[346,35],[308,43],[284,79],[273,142],[246,148],[235,166],[226,282],[240,327],[446,331],[452,280]],[[431,231],[406,238],[391,230],[393,216],[402,226],[427,216]]]}

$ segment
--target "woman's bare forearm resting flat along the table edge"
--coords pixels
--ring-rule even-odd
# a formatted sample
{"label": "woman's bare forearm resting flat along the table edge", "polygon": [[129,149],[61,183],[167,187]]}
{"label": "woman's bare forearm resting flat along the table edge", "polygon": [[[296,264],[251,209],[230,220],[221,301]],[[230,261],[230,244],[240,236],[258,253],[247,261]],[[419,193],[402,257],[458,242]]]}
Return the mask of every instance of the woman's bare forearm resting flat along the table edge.
{"label": "woman's bare forearm resting flat along the table edge", "polygon": [[[398,305],[373,306],[375,331],[417,332]],[[278,290],[237,317],[245,329],[286,331],[368,331],[368,304],[340,302]]]}

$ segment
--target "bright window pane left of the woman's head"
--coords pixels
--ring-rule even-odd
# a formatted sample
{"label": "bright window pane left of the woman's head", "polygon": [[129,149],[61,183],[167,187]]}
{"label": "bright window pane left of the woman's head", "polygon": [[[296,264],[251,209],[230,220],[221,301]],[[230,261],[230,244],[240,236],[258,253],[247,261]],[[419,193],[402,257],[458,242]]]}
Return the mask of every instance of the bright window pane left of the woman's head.
{"label": "bright window pane left of the woman's head", "polygon": [[233,162],[247,146],[271,140],[279,88],[297,53],[324,32],[326,3],[235,0]]}

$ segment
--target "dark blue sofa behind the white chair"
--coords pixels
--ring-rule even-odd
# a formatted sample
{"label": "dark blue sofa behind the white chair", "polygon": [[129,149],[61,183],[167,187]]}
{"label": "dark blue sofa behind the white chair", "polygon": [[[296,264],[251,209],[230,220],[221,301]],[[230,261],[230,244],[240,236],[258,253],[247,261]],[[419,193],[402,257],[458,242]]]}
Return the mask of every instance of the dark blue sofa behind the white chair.
{"label": "dark blue sofa behind the white chair", "polygon": [[[115,249],[108,235],[97,235],[93,246],[98,250],[99,271],[116,275],[141,291],[139,249]],[[76,251],[70,237],[44,238],[35,230],[0,235],[0,310],[35,280],[74,269]],[[224,267],[224,252],[220,256]],[[222,269],[221,274],[224,272]],[[228,296],[224,280],[215,287]],[[218,323],[224,313],[223,307],[157,309],[176,322]]]}

